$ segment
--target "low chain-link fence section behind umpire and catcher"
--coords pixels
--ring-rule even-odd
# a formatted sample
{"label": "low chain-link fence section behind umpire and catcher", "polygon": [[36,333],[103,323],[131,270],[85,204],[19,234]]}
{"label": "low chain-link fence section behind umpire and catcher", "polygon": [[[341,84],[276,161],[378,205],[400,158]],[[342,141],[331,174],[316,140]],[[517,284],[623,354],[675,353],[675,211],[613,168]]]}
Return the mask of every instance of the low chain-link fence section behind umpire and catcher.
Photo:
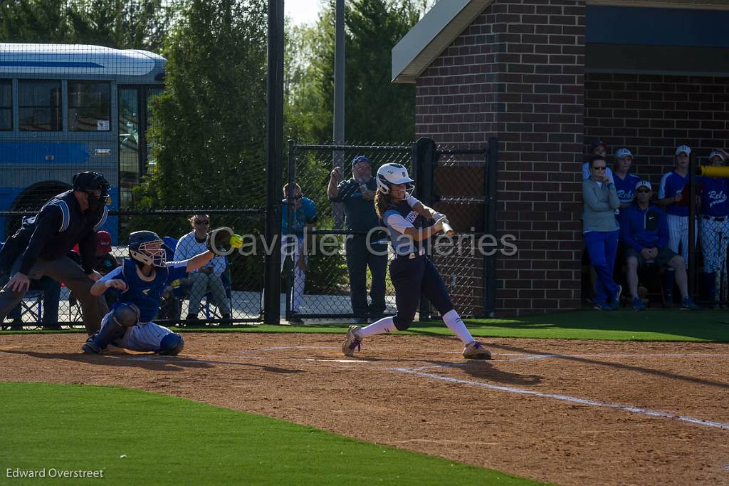
{"label": "low chain-link fence section behind umpire and catcher", "polygon": [[[30,208],[28,208],[30,209]],[[33,216],[36,211],[0,212],[4,221],[19,221],[23,216]],[[229,209],[229,208],[190,208],[190,209],[155,209],[150,211],[112,210],[110,216],[117,216],[119,221],[118,236],[112,241],[111,254],[117,261],[128,257],[128,236],[132,231],[142,229],[155,231],[167,245],[168,258],[174,258],[174,244],[192,231],[189,218],[193,215],[205,214],[210,218],[210,228],[229,226],[243,234],[245,247],[225,257],[225,271],[221,278],[224,282],[227,303],[230,306],[230,319],[222,318],[222,306],[215,301],[211,293],[206,293],[200,303],[198,320],[187,320],[190,310],[190,285],[184,280],[171,282],[165,290],[162,307],[155,319],[162,325],[234,325],[240,323],[260,322],[262,320],[262,289],[264,283],[265,244],[262,234],[265,223],[265,212],[262,209]],[[39,312],[43,312],[44,302],[41,298],[37,306],[38,293],[30,293],[26,306],[23,306],[23,327],[39,328],[41,326]],[[34,309],[30,312],[28,307]],[[9,327],[6,318],[3,326]],[[82,327],[82,313],[74,296],[62,286],[61,301],[58,309],[58,324],[70,327]]]}

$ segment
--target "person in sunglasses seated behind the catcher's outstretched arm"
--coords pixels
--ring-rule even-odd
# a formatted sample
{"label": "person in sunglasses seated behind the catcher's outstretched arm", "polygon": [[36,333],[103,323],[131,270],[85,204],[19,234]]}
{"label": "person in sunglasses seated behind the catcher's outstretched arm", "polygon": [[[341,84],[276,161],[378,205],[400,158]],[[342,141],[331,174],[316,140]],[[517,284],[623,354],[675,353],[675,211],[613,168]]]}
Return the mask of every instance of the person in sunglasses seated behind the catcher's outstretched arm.
{"label": "person in sunglasses seated behind the catcher's outstretched arm", "polygon": [[[208,228],[210,217],[208,215],[194,215],[189,219],[192,231],[182,236],[175,248],[175,261],[187,261],[195,255],[200,255],[208,250],[206,245],[208,239]],[[187,275],[190,283],[190,308],[187,313],[187,322],[194,323],[200,320],[200,301],[208,293],[217,305],[223,319],[230,319],[230,302],[225,295],[222,274],[225,271],[225,257],[215,256],[198,269]]]}

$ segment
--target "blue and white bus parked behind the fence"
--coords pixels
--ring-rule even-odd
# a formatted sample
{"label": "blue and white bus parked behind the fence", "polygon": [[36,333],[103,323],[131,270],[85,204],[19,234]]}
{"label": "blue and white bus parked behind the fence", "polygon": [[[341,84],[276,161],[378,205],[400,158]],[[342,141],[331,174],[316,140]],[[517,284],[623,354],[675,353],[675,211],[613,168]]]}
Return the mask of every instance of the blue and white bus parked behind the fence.
{"label": "blue and white bus parked behind the fence", "polygon": [[[0,211],[37,210],[88,170],[111,183],[112,207],[130,207],[165,62],[144,50],[0,43]],[[20,221],[0,219],[2,241]],[[116,241],[117,218],[104,229]]]}

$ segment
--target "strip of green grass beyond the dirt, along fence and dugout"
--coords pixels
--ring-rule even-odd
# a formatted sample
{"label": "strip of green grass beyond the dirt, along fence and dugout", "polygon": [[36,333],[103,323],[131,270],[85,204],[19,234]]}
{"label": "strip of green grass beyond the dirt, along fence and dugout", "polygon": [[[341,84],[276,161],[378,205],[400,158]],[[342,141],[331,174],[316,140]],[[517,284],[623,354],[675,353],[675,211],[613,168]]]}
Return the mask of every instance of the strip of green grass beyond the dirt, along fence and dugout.
{"label": "strip of green grass beyond the dirt, along fence and dugout", "polygon": [[[729,342],[729,315],[721,310],[652,309],[648,312],[631,310],[599,312],[590,309],[508,319],[467,319],[466,325],[476,337]],[[175,329],[190,332],[346,333],[347,327],[348,324],[313,323]],[[3,331],[2,333],[21,332],[54,331]],[[440,320],[413,323],[406,333],[453,336]]]}

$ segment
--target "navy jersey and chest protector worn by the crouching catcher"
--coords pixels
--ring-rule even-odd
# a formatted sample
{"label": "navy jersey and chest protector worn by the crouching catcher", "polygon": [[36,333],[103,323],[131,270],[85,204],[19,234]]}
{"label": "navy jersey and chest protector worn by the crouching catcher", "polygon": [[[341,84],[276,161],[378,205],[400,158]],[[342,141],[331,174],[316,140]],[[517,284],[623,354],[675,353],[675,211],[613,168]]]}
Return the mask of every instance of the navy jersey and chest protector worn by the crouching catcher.
{"label": "navy jersey and chest protector worn by the crouching catcher", "polygon": [[[139,323],[151,323],[160,311],[162,293],[173,280],[182,279],[187,276],[187,262],[168,261],[164,267],[155,266],[155,277],[150,280],[143,280],[139,277],[136,263],[130,258],[125,258],[122,266],[110,271],[99,279],[99,282],[107,280],[124,280],[127,290],[121,292],[120,304],[134,304],[139,307]],[[109,289],[107,289],[109,290]],[[119,292],[117,290],[117,292]]]}

